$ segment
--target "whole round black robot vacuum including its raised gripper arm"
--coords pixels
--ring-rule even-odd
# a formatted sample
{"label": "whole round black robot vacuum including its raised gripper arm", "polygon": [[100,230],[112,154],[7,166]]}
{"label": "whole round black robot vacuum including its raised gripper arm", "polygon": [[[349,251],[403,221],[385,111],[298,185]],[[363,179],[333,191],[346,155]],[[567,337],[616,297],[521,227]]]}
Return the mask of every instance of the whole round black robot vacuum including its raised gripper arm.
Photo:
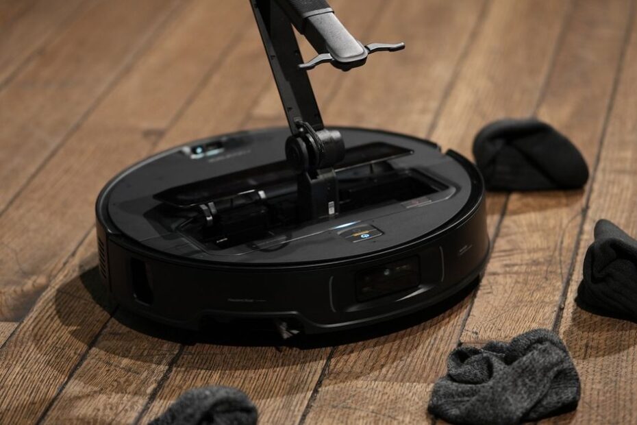
{"label": "whole round black robot vacuum including its raised gripper arm", "polygon": [[[325,128],[316,106],[308,69],[404,45],[362,45],[322,0],[250,4],[288,127],[193,141],[109,182],[96,208],[112,298],[182,328],[265,319],[314,333],[421,311],[479,279],[475,166],[420,138]],[[318,52],[310,62],[292,25]]]}

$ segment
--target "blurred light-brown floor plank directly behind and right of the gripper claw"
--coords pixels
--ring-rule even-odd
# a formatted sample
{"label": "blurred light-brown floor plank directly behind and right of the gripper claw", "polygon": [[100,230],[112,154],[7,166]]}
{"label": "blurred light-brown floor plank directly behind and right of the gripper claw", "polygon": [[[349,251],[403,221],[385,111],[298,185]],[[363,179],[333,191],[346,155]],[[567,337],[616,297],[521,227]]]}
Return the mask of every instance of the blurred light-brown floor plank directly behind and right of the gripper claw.
{"label": "blurred light-brown floor plank directly behind and right of the gripper claw", "polygon": [[382,19],[373,37],[404,41],[405,50],[372,55],[369,66],[341,75],[342,86],[334,106],[325,110],[325,121],[430,136],[482,5],[482,1],[390,2],[384,16],[393,19]]}

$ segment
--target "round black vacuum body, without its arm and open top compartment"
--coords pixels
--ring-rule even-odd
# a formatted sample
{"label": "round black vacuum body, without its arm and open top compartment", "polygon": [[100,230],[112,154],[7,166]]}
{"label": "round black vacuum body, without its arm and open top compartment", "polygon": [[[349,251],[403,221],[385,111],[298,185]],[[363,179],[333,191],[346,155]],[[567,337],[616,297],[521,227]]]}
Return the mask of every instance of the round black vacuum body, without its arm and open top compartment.
{"label": "round black vacuum body, without its arm and open top compartment", "polygon": [[[113,297],[173,326],[265,318],[325,332],[427,308],[478,278],[489,242],[482,178],[471,162],[410,136],[338,130],[348,147],[412,151],[386,163],[422,173],[436,191],[212,249],[182,232],[189,213],[181,217],[155,195],[280,162],[288,130],[188,143],[123,171],[99,196],[100,269]],[[208,155],[197,149],[206,144]]]}

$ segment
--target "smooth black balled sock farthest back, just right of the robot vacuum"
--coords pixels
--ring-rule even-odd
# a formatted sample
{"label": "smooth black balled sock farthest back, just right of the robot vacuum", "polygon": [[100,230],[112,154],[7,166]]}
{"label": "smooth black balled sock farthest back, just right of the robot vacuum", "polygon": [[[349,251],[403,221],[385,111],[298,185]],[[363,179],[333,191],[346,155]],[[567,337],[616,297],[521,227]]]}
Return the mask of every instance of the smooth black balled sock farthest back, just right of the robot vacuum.
{"label": "smooth black balled sock farthest back, just right of the robot vacuum", "polygon": [[588,180],[582,154],[551,125],[503,119],[475,136],[473,156],[492,191],[577,189]]}

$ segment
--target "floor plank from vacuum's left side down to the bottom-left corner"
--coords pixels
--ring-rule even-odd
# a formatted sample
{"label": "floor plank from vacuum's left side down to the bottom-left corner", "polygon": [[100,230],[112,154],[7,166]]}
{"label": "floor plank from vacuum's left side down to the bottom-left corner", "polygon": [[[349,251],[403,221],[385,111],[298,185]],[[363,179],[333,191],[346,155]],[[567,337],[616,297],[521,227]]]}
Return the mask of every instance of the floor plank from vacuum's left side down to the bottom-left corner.
{"label": "floor plank from vacuum's left side down to the bottom-left corner", "polygon": [[[38,420],[109,317],[85,286],[95,293],[101,289],[95,243],[90,242],[68,260],[34,312],[0,350],[3,424]],[[101,302],[105,304],[104,298]]]}

